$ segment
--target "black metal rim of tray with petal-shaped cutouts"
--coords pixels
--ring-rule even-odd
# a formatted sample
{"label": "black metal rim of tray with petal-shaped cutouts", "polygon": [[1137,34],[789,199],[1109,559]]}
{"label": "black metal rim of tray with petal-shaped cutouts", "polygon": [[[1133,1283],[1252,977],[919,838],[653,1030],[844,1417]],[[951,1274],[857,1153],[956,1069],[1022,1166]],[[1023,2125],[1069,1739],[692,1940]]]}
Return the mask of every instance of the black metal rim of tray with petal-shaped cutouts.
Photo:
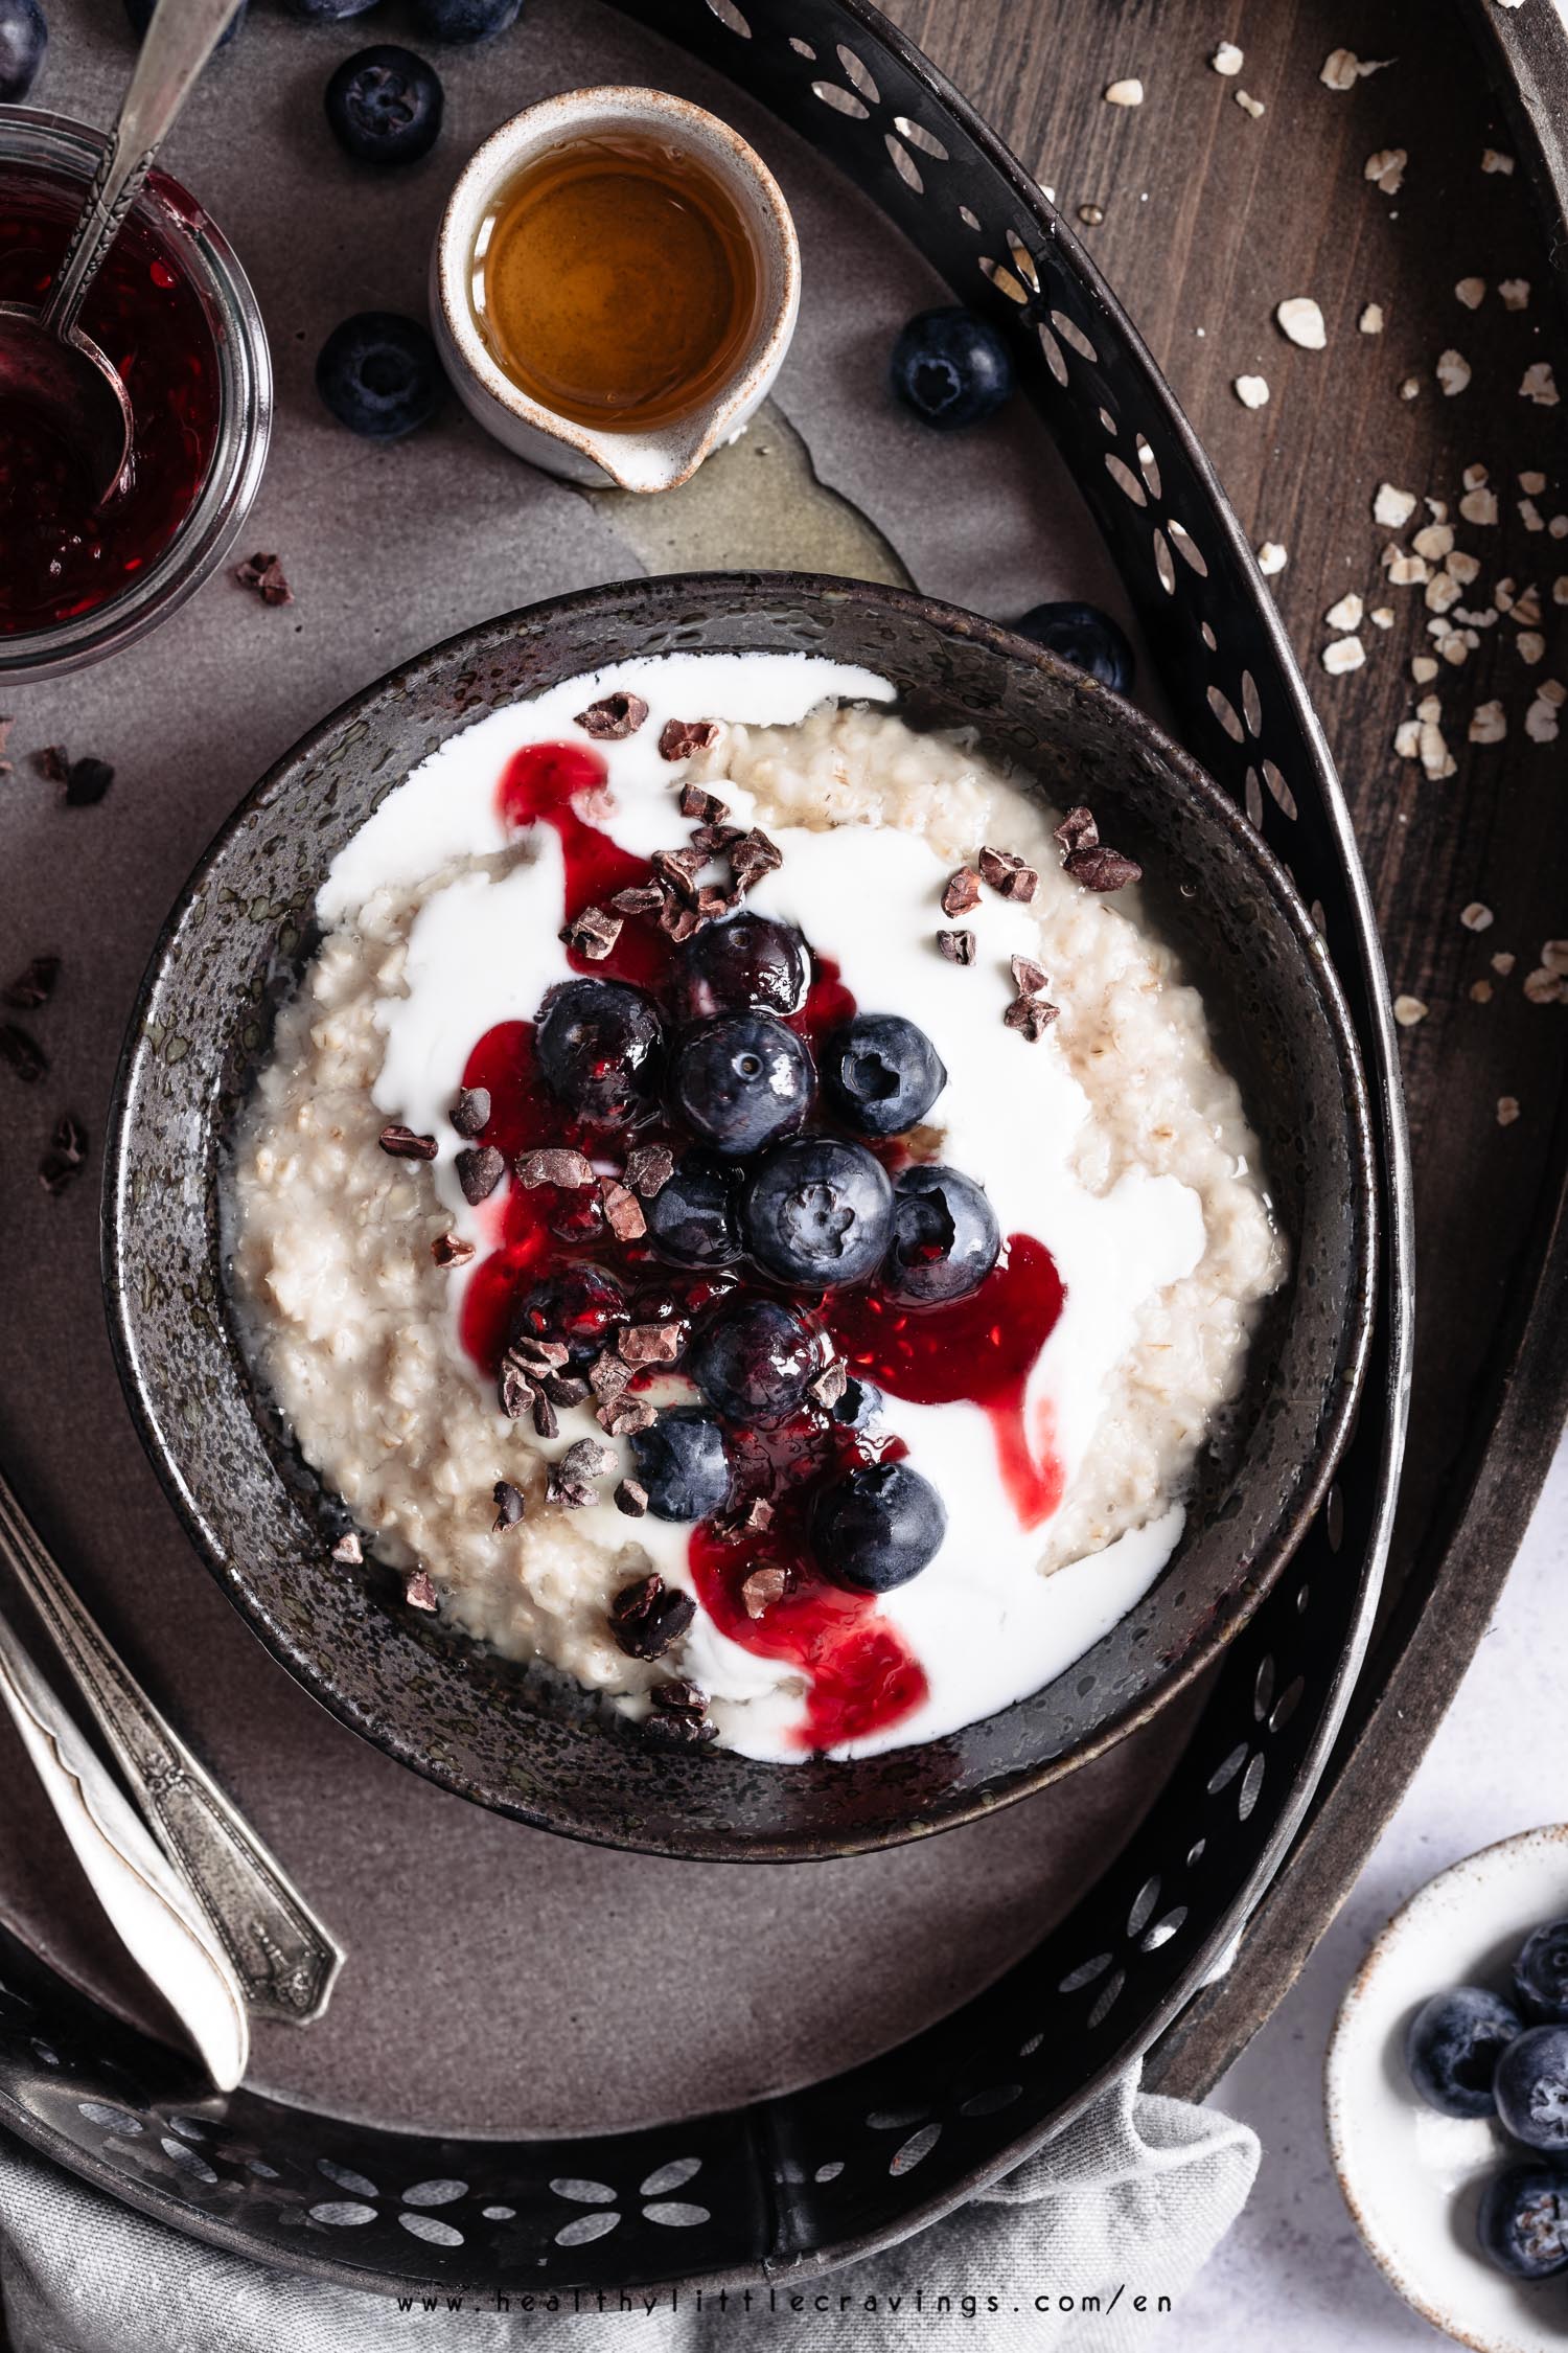
{"label": "black metal rim of tray with petal-shaped cutouts", "polygon": [[[0,2118],[193,2235],[360,2287],[776,2278],[896,2242],[1018,2165],[1222,1965],[1340,1725],[1387,1551],[1410,1353],[1408,1155],[1345,800],[1246,539],[1114,296],[1039,186],[863,0],[621,0],[743,82],[1011,334],[1138,607],[1178,732],[1291,868],[1366,1059],[1385,1257],[1326,1508],[1237,1635],[1114,1868],[983,1998],[846,2075],[590,2141],[371,2132],[207,2101],[0,1937]],[[559,2184],[555,2188],[552,2184]]]}

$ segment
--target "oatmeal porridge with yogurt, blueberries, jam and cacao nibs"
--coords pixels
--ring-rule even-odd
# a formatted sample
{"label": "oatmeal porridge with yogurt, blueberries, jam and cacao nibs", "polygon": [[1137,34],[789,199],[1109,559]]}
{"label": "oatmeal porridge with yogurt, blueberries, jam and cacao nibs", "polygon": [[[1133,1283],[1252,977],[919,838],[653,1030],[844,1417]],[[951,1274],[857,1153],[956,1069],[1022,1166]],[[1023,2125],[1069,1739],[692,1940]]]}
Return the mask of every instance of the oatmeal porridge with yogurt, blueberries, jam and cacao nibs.
{"label": "oatmeal porridge with yogurt, blueberries, jam and cacao nibs", "polygon": [[780,1762],[1100,1640],[1284,1278],[1133,861],[889,701],[672,654],[449,739],[334,861],[233,1160],[346,1558]]}

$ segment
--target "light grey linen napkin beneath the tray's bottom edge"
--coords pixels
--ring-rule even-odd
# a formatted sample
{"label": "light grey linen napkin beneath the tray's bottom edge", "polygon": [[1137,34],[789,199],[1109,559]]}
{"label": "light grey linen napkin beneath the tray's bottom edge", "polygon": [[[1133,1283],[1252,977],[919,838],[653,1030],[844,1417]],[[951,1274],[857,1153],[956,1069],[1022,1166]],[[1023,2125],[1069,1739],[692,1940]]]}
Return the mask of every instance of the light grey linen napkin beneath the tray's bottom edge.
{"label": "light grey linen napkin beneath the tray's bottom edge", "polygon": [[[219,2254],[115,2205],[0,2134],[0,2292],[14,2353],[1133,2353],[1159,2329],[1241,2212],[1258,2137],[1124,2075],[1077,2122],[971,2205],[886,2254],[778,2280],[750,2315],[400,2311]],[[804,2297],[799,2313],[788,2297]],[[950,2297],[947,2311],[936,2299]],[[976,2299],[966,2308],[964,2299]],[[990,2301],[994,2299],[994,2304]]]}

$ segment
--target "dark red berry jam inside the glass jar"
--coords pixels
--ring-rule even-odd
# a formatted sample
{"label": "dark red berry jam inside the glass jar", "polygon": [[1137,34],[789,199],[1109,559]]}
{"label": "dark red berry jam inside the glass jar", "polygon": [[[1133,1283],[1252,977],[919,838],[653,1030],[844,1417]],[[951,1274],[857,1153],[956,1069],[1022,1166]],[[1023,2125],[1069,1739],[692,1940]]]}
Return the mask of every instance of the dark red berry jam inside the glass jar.
{"label": "dark red berry jam inside the glass jar", "polygon": [[[40,308],[80,205],[80,184],[0,172],[0,301]],[[148,219],[134,214],[115,238],[80,325],[132,398],[132,482],[94,508],[71,447],[35,412],[0,402],[0,635],[52,628],[120,595],[179,532],[219,440],[212,327]]]}

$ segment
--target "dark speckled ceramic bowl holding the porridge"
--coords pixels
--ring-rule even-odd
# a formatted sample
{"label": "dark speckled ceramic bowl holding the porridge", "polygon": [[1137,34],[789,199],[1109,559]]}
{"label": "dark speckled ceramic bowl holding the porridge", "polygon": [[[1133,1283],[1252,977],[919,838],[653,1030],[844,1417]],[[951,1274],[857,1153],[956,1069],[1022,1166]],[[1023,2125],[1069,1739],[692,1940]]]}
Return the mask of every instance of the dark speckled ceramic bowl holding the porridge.
{"label": "dark speckled ceramic bowl holding the porridge", "polygon": [[[1056,805],[1093,802],[1150,873],[1262,1141],[1291,1280],[1253,1346],[1227,1459],[1171,1567],[1065,1675],[853,1765],[649,1751],[552,1668],[447,1635],[397,1581],[327,1555],[346,1525],[259,1393],[226,1308],[221,1141],[299,972],[331,856],[458,727],[607,661],[799,649],[893,680],[924,727],[973,727]],[[110,1113],[108,1318],[132,1412],[205,1560],[268,1649],[388,1755],[548,1831],[736,1861],[940,1831],[1098,1755],[1220,1654],[1291,1558],[1345,1445],[1375,1254],[1366,1089],[1328,953],[1237,807],[1138,711],[1032,645],[917,595],[795,574],[625,581],[468,631],[346,704],[221,831],[153,955]],[[1288,1685],[1288,1661],[1279,1661]]]}

